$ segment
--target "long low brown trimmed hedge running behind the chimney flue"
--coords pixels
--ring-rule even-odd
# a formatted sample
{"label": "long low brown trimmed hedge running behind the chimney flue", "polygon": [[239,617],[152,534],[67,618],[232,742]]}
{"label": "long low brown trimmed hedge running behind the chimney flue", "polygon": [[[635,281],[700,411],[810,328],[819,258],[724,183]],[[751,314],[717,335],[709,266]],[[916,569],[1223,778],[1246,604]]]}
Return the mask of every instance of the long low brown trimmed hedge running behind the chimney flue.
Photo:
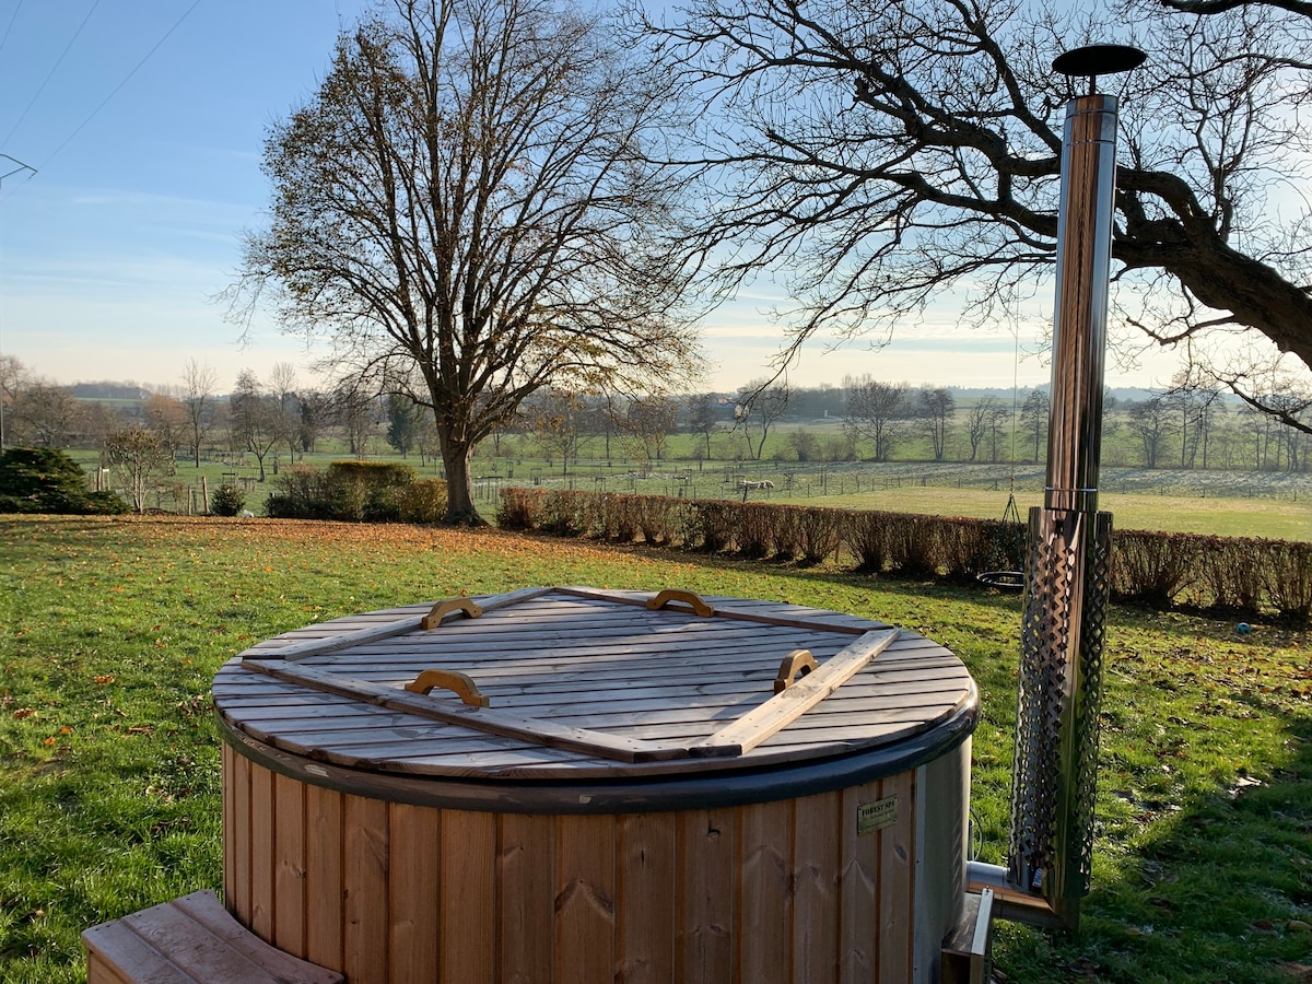
{"label": "long low brown trimmed hedge running behind the chimney flue", "polygon": [[[1025,565],[1026,529],[998,520],[769,502],[504,488],[502,527],[749,559],[819,564],[846,551],[862,573],[974,581]],[[1312,617],[1312,543],[1114,530],[1111,596],[1218,614]]]}

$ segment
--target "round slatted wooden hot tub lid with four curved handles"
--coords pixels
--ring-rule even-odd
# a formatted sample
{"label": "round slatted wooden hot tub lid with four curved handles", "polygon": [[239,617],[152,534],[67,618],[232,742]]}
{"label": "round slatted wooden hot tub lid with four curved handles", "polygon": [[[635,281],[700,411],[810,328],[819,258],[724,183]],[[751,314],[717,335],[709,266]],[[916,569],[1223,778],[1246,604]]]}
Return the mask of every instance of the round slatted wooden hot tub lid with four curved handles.
{"label": "round slatted wooden hot tub lid with four curved handles", "polygon": [[882,622],[590,588],[307,626],[247,649],[214,681],[227,729],[269,749],[462,779],[800,765],[905,741],[975,701],[951,652]]}

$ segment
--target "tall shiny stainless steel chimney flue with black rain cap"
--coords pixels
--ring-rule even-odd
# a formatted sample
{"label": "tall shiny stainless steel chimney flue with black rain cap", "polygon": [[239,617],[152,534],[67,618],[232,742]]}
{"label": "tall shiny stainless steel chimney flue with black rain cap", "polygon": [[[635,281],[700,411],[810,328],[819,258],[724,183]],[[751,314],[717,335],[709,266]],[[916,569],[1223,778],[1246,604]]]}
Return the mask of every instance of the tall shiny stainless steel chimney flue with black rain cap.
{"label": "tall shiny stainless steel chimney flue with black rain cap", "polygon": [[[1143,60],[1099,45],[1054,68],[1096,76]],[[1098,512],[1103,356],[1115,194],[1117,98],[1067,104],[1057,220],[1044,504],[1030,510],[1006,880],[1076,928],[1088,892],[1111,514]]]}

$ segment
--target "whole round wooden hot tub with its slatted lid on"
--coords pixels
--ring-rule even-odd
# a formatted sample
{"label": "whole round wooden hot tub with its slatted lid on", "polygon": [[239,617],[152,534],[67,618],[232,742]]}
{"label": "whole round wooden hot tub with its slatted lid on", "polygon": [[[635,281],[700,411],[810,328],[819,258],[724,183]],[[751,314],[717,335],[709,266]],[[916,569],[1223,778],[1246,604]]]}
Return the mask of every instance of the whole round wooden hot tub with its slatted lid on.
{"label": "whole round wooden hot tub with its slatted lid on", "polygon": [[[937,979],[964,666],[879,622],[673,594],[424,604],[231,660],[228,909],[352,984]],[[403,689],[425,670],[455,673]]]}

